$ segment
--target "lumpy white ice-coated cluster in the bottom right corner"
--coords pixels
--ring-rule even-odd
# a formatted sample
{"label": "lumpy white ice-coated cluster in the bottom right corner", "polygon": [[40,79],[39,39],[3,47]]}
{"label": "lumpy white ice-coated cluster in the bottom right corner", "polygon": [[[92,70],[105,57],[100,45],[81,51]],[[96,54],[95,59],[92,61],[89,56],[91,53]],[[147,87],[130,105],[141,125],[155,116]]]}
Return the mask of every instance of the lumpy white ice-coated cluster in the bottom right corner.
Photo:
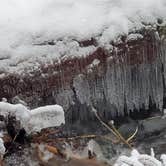
{"label": "lumpy white ice-coated cluster in the bottom right corner", "polygon": [[151,155],[140,154],[134,149],[130,157],[120,156],[114,166],[166,166],[166,154],[162,154],[158,160],[155,158],[153,149],[151,149]]}

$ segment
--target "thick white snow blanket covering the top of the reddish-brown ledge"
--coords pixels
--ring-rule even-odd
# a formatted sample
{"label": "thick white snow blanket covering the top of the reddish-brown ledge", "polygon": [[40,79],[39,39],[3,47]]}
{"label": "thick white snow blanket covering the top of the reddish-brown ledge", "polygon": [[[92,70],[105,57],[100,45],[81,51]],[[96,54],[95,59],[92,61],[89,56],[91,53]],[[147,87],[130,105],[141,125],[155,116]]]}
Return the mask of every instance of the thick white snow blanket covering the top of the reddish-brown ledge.
{"label": "thick white snow blanket covering the top of the reddish-brown ledge", "polygon": [[165,20],[165,0],[1,0],[0,72],[23,72],[41,63],[86,56],[96,38],[107,46],[118,35]]}

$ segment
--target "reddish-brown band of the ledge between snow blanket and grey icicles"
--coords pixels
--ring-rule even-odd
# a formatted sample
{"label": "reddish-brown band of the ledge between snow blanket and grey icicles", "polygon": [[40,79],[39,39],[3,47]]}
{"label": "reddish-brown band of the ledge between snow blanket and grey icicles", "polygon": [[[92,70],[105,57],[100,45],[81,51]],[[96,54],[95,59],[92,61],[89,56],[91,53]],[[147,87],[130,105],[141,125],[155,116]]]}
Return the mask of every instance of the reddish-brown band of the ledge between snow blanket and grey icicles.
{"label": "reddish-brown band of the ledge between snow blanket and grey icicles", "polygon": [[[94,39],[80,42],[82,47],[91,44],[97,45]],[[99,47],[93,54],[86,57],[64,59],[61,60],[61,62],[54,62],[54,64],[51,65],[43,64],[40,70],[33,71],[33,73],[30,74],[25,73],[24,76],[8,73],[5,77],[0,78],[0,98],[6,97],[10,100],[18,95],[32,107],[40,105],[41,103],[47,104],[47,102],[44,102],[44,100],[47,99],[50,103],[56,102],[56,94],[63,93],[65,90],[72,91],[71,98],[73,98],[75,93],[73,91],[73,80],[79,74],[85,76],[86,82],[93,82],[94,84],[96,82],[93,86],[96,86],[100,90],[103,87],[99,87],[98,80],[108,79],[109,77],[106,78],[106,73],[109,72],[108,70],[112,70],[112,68],[116,70],[116,67],[124,68],[126,70],[125,72],[128,72],[129,69],[127,68],[131,66],[130,75],[133,78],[129,78],[129,84],[135,87],[137,83],[134,82],[135,77],[132,76],[132,73],[134,71],[138,72],[140,65],[156,63],[159,47],[160,42],[155,38],[155,32],[149,32],[144,34],[143,39],[137,39],[136,41],[123,40],[123,42],[119,44],[113,44],[113,50],[111,52]],[[89,72],[89,66],[93,63],[94,59],[98,59],[100,63]],[[122,72],[124,72],[123,69]],[[135,74],[137,75],[137,73]],[[147,75],[147,73],[145,75]],[[141,81],[144,80],[141,78]],[[104,80],[104,82],[107,82],[107,80]],[[154,82],[156,85],[156,80]],[[117,84],[117,82],[114,83]],[[111,85],[108,84],[107,86]],[[109,88],[111,89],[111,87],[107,89]],[[137,86],[136,88],[139,87]],[[90,88],[90,91],[91,89],[93,88]],[[104,90],[104,93],[107,93],[107,89]],[[54,96],[52,96],[53,92]],[[95,93],[97,92],[94,92],[93,96]],[[53,98],[53,100],[51,98]],[[40,102],[37,101],[38,99],[40,99]],[[35,102],[37,103],[36,105],[32,104]],[[111,103],[111,101],[109,102]]]}

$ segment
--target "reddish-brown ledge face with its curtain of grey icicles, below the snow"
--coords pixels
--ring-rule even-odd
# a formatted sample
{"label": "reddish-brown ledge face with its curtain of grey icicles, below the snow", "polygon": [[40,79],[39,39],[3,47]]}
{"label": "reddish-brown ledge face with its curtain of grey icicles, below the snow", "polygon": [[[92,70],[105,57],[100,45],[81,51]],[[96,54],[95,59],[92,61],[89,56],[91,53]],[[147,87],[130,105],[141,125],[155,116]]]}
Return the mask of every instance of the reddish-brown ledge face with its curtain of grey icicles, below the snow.
{"label": "reddish-brown ledge face with its curtain of grey icicles, below the snow", "polygon": [[[123,39],[111,52],[99,47],[87,57],[43,64],[26,76],[9,73],[0,79],[0,98],[19,96],[30,107],[60,104],[69,122],[94,119],[89,105],[106,120],[134,118],[133,111],[138,118],[147,116],[147,110],[163,107],[166,46],[153,31],[143,36]],[[80,42],[89,45],[97,44],[94,39]]]}

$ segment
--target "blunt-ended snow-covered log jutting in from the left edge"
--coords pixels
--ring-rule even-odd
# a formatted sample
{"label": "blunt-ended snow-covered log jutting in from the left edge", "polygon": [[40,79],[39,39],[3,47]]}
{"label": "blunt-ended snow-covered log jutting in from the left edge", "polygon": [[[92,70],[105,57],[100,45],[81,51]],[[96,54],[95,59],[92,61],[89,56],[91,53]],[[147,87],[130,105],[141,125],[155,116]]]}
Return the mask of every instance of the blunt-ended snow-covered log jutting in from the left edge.
{"label": "blunt-ended snow-covered log jutting in from the left edge", "polygon": [[37,132],[43,128],[60,126],[65,123],[63,108],[50,105],[29,110],[22,104],[0,102],[0,115],[13,115],[20,121],[27,133]]}

